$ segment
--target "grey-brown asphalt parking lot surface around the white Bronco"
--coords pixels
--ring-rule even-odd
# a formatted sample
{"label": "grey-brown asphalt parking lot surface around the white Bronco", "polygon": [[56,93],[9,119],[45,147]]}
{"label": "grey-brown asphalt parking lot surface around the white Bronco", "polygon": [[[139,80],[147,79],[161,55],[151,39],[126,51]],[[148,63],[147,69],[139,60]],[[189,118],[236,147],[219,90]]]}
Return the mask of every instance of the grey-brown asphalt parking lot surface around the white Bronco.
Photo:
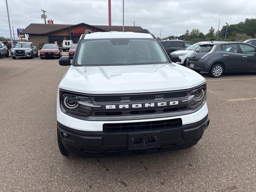
{"label": "grey-brown asphalt parking lot surface around the white Bronco", "polygon": [[56,138],[58,60],[0,59],[0,191],[256,191],[256,74],[207,80],[210,126],[185,150],[66,158]]}

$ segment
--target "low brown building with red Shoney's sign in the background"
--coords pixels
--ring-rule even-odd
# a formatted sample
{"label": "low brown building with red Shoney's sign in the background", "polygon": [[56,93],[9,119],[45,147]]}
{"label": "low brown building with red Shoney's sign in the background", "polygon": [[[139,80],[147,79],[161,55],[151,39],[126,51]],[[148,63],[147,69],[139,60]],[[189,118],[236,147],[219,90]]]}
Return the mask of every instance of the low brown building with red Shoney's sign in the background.
{"label": "low brown building with red Shoney's sign in the background", "polygon": [[[76,25],[32,23],[27,26],[21,34],[27,34],[29,41],[33,42],[36,46],[38,46],[40,42],[58,42],[60,45],[63,40],[72,40],[74,43],[77,43],[81,34],[83,34],[86,29],[93,32],[122,31],[123,26],[89,25],[86,23]],[[142,28],[139,26],[124,26],[125,32],[138,29]]]}

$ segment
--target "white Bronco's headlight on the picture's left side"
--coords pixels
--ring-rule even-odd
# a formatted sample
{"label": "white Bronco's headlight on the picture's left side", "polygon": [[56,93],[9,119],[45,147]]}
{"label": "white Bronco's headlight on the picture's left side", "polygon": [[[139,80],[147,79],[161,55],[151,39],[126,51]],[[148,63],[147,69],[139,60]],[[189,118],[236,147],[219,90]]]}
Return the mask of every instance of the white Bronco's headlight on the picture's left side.
{"label": "white Bronco's headlight on the picture's left side", "polygon": [[88,97],[71,94],[64,94],[62,96],[61,105],[66,111],[83,116],[89,116],[93,108],[101,108],[100,105],[94,105]]}

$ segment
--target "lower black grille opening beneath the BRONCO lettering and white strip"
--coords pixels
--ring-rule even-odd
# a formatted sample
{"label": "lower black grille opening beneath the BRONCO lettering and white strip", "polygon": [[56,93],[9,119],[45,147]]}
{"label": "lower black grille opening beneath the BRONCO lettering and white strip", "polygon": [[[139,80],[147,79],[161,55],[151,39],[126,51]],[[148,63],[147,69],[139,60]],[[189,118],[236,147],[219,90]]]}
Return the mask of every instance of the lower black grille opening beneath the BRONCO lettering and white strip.
{"label": "lower black grille opening beneath the BRONCO lettering and white strip", "polygon": [[140,131],[154,131],[180,128],[182,126],[182,119],[168,119],[160,121],[146,121],[134,123],[105,123],[103,124],[104,133],[124,133],[124,132],[140,132]]}

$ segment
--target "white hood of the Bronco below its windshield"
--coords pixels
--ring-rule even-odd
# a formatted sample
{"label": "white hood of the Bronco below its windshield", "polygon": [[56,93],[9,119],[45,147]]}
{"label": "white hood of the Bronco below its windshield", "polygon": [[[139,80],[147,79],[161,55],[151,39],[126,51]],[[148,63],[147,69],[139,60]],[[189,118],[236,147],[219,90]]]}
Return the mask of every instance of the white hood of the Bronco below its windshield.
{"label": "white hood of the Bronco below its windshield", "polygon": [[129,66],[70,66],[59,88],[88,94],[184,90],[205,79],[175,63]]}

